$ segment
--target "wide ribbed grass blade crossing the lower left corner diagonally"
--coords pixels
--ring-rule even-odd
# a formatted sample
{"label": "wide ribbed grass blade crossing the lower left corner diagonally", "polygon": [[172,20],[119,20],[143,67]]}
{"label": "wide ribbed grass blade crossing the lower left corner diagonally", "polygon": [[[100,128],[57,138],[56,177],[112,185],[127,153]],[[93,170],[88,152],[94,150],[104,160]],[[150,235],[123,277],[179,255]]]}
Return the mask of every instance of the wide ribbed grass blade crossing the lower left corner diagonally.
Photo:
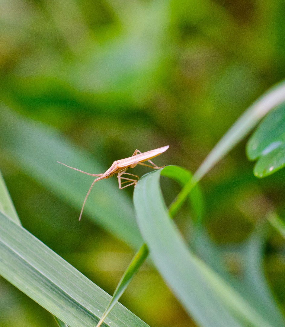
{"label": "wide ribbed grass blade crossing the lower left corner diagonally", "polygon": [[[0,213],[0,274],[70,327],[95,326],[111,297]],[[108,326],[147,326],[117,303]]]}

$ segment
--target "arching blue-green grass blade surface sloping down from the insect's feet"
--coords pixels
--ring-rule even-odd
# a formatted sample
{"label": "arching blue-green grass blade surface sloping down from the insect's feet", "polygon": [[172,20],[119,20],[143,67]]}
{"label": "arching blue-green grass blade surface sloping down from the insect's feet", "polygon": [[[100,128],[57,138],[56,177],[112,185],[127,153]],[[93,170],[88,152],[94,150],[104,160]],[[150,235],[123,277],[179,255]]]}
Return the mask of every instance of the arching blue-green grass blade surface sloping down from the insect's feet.
{"label": "arching blue-green grass blade surface sloping down from the insect's feet", "polygon": [[273,326],[188,249],[170,220],[159,177],[154,171],[137,183],[136,216],[154,264],[187,312],[203,327]]}

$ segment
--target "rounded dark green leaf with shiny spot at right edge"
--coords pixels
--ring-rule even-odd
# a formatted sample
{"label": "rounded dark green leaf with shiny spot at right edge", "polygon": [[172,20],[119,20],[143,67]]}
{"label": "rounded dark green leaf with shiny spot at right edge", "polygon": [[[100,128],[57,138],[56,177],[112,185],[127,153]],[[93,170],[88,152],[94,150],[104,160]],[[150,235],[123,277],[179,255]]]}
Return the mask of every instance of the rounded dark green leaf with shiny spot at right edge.
{"label": "rounded dark green leaf with shiny spot at right edge", "polygon": [[258,159],[254,175],[265,177],[285,165],[285,103],[270,112],[247,143],[247,156]]}

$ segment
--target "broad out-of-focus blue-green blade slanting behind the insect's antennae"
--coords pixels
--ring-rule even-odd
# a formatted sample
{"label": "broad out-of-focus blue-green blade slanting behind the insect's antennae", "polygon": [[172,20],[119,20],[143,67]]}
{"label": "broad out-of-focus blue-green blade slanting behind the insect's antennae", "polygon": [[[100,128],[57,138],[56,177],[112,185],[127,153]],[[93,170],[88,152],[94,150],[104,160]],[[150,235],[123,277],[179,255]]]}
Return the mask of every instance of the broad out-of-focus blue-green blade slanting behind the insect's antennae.
{"label": "broad out-of-focus blue-green blade slanting behind the insect's antennae", "polygon": [[[78,150],[55,129],[4,108],[0,111],[0,146],[26,174],[79,211],[93,179],[57,161],[90,173],[106,170],[98,160]],[[95,183],[83,214],[134,248],[143,243],[131,201],[119,190],[116,180]]]}

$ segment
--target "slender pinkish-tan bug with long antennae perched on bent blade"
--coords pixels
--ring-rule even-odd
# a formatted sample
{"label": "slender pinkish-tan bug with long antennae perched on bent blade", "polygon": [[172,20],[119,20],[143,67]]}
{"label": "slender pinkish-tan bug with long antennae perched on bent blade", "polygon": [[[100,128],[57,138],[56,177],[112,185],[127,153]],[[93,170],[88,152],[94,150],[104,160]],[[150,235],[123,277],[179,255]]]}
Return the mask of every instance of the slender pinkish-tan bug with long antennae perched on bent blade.
{"label": "slender pinkish-tan bug with long antennae perched on bent blade", "polygon": [[[169,146],[167,145],[167,146],[159,147],[158,149],[146,151],[146,152],[143,152],[143,153],[140,150],[135,150],[135,152],[133,153],[133,155],[131,157],[128,157],[126,159],[121,159],[121,160],[114,161],[112,166],[108,170],[106,170],[105,173],[103,173],[103,174],[89,174],[89,173],[86,173],[85,171],[82,171],[80,169],[70,167],[65,163],[61,163],[61,164],[65,165],[65,166],[67,166],[68,168],[80,171],[81,173],[84,173],[84,174],[87,174],[87,175],[90,175],[90,176],[93,176],[93,177],[95,177],[95,176],[98,177],[93,181],[93,183],[91,184],[91,186],[89,188],[89,191],[86,194],[86,197],[85,197],[85,199],[83,201],[83,206],[82,206],[82,209],[81,209],[81,212],[80,212],[79,220],[81,219],[85,202],[86,202],[86,200],[88,198],[88,195],[89,195],[89,193],[90,193],[90,191],[91,191],[91,189],[92,189],[95,182],[103,180],[105,178],[112,177],[113,175],[117,174],[120,189],[123,189],[125,187],[130,186],[130,185],[135,186],[136,183],[138,182],[139,176],[134,175],[134,174],[126,173],[127,169],[128,168],[134,168],[137,164],[140,164],[142,166],[147,166],[147,167],[150,167],[150,168],[153,168],[153,169],[163,168],[163,167],[158,167],[150,159],[152,159],[152,158],[158,156],[159,154],[163,153],[168,148],[169,148]],[[149,164],[144,163],[144,161],[147,161],[147,162],[151,163],[152,166],[149,165]],[[58,163],[60,163],[60,162],[58,161]],[[122,177],[123,175],[133,176],[133,179],[128,178],[128,177]],[[137,179],[134,179],[134,178],[137,178]],[[122,180],[124,180],[124,181],[122,182]],[[129,183],[129,184],[125,185],[125,186],[122,186],[122,184],[126,184],[126,183]]]}

